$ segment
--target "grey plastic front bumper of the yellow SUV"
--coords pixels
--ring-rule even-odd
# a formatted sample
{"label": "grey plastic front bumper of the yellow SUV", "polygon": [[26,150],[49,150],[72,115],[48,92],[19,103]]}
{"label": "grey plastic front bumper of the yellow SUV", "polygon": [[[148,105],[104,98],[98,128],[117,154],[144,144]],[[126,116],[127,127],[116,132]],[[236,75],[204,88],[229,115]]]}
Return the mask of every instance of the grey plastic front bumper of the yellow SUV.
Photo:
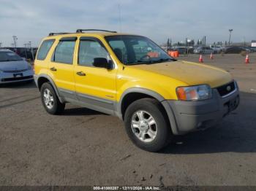
{"label": "grey plastic front bumper of the yellow SUV", "polygon": [[[236,90],[226,96],[219,95],[217,89],[213,89],[213,97],[204,101],[165,101],[165,108],[170,106],[169,120],[174,134],[184,134],[193,130],[210,128],[222,120],[227,114],[237,108],[239,104],[239,91]],[[171,116],[171,117],[170,117]],[[176,126],[176,127],[173,127]]]}

